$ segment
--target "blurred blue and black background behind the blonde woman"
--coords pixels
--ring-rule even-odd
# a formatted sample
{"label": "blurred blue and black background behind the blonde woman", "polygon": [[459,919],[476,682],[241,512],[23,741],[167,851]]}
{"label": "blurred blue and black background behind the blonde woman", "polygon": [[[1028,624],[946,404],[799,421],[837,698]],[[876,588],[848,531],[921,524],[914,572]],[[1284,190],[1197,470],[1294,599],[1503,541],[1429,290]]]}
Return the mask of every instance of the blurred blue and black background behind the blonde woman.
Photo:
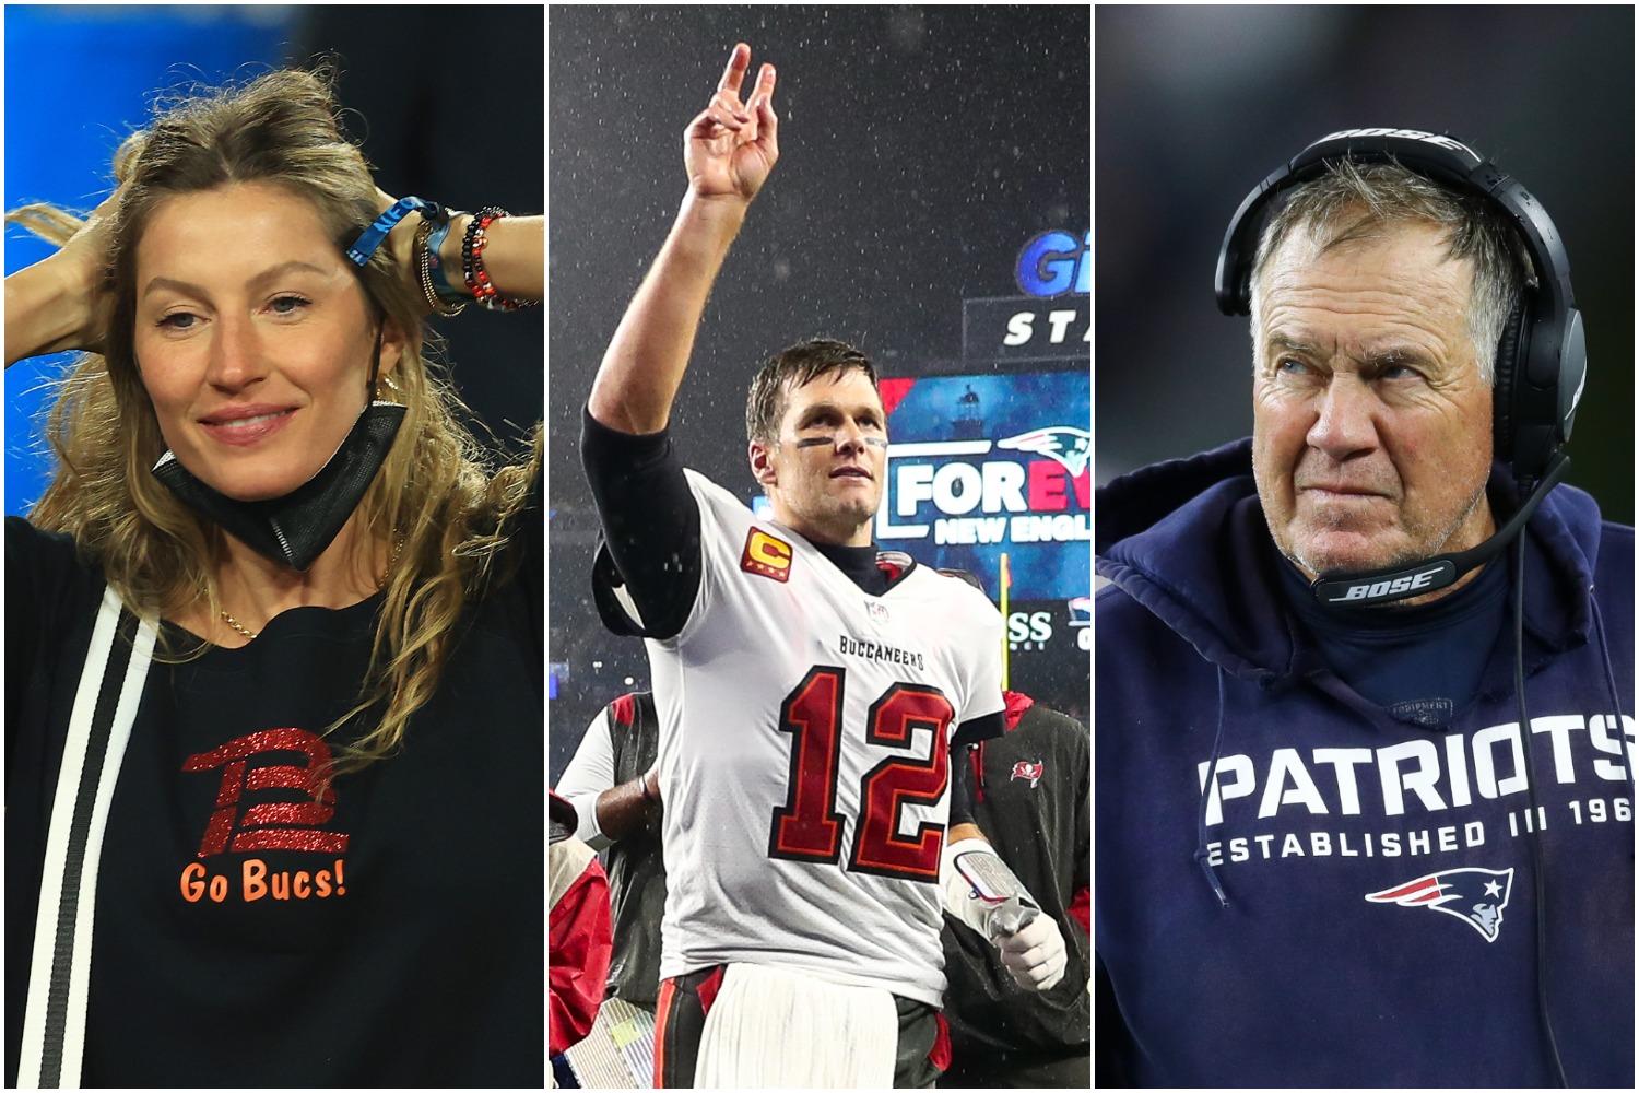
{"label": "blurred blue and black background behind the blonde woman", "polygon": [[[339,61],[349,129],[382,188],[539,213],[544,36],[539,7],[7,5],[5,206],[87,211],[108,193],[113,151],[156,97],[325,54]],[[462,61],[464,48],[482,59]],[[48,252],[7,228],[8,274]],[[544,401],[539,311],[469,310],[441,329],[477,421],[498,433],[498,446],[515,446]],[[25,513],[48,482],[38,415],[67,359],[7,370],[8,515]]]}

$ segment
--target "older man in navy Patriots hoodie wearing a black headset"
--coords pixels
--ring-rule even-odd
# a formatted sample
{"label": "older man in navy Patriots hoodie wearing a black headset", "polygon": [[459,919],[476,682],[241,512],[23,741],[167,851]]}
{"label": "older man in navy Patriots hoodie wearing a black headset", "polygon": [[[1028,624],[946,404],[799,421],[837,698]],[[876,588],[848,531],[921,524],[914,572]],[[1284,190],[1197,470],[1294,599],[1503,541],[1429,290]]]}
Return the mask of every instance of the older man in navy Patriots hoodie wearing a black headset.
{"label": "older man in navy Patriots hoodie wearing a black headset", "polygon": [[1219,293],[1252,439],[1098,497],[1098,1082],[1631,1086],[1632,529],[1554,487],[1552,224],[1333,134]]}

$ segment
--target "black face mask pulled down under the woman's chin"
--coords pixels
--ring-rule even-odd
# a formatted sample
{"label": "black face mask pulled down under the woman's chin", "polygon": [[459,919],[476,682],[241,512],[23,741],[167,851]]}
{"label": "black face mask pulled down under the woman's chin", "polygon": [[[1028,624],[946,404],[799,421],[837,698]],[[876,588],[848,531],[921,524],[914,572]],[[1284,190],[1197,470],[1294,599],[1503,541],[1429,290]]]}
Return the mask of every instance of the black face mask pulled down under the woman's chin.
{"label": "black face mask pulled down under the woman's chin", "polygon": [[295,570],[306,570],[364,500],[403,418],[405,406],[372,401],[316,475],[267,501],[236,501],[218,493],[195,478],[170,451],[154,464],[154,477],[182,503],[216,521],[246,546]]}

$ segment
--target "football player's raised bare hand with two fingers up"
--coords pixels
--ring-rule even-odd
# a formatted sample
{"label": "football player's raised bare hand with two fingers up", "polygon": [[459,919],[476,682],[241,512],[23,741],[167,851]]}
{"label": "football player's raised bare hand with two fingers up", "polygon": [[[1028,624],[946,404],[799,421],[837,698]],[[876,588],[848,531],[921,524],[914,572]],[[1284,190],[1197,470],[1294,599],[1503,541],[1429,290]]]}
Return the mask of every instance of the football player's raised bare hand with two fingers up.
{"label": "football player's raised bare hand with two fingers up", "polygon": [[729,54],[716,93],[683,131],[683,166],[697,197],[739,197],[746,202],[769,179],[780,157],[779,118],[774,116],[774,66],[764,64],[751,100],[741,87],[751,70],[751,46]]}

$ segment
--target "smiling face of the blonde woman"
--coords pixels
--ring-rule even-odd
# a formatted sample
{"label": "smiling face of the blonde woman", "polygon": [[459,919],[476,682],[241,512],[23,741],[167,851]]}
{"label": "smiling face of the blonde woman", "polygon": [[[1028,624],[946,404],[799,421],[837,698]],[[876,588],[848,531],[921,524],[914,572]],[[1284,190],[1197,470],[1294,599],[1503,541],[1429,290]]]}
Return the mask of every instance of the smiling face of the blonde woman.
{"label": "smiling face of the blonde woman", "polygon": [[[167,198],[136,244],[134,347],[166,444],[243,501],[290,493],[369,400],[375,323],[311,205],[236,182]],[[403,339],[388,323],[380,372]]]}

